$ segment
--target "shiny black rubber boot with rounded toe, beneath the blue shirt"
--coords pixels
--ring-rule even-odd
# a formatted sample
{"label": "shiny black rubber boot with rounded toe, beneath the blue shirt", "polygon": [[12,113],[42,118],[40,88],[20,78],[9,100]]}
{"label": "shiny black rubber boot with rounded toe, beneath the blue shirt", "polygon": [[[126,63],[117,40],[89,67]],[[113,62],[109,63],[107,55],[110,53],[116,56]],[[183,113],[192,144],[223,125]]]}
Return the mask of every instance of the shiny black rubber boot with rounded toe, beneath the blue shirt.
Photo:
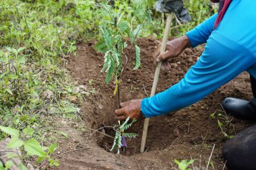
{"label": "shiny black rubber boot with rounded toe, beneath the blue shirt", "polygon": [[251,89],[253,91],[253,99],[246,101],[228,97],[222,101],[224,110],[230,116],[241,120],[256,120],[256,80],[251,76]]}

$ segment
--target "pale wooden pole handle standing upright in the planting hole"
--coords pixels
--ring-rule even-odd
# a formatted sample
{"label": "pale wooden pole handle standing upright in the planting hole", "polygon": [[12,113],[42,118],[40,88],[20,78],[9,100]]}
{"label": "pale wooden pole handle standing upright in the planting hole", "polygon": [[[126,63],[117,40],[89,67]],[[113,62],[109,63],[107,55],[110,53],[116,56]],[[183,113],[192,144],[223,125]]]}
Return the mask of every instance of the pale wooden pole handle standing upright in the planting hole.
{"label": "pale wooden pole handle standing upright in the planting hole", "polygon": [[[160,53],[165,51],[166,43],[167,43],[167,39],[168,39],[168,34],[170,32],[170,24],[172,22],[172,13],[168,13],[167,15],[168,15],[168,17],[167,17],[167,20],[166,20],[166,26],[165,26],[165,29],[164,29],[164,38],[162,38],[162,45],[161,45],[161,48],[160,48]],[[150,97],[152,97],[156,93],[156,86],[158,85],[158,77],[159,77],[161,65],[162,65],[162,61],[158,62],[157,66],[156,66],[154,82],[153,82]],[[146,138],[147,138],[147,133],[148,133],[148,123],[149,122],[150,122],[150,118],[146,118],[145,121],[144,121],[143,134],[142,134],[141,147],[140,147],[140,152],[141,153],[143,153],[144,149],[145,149]]]}

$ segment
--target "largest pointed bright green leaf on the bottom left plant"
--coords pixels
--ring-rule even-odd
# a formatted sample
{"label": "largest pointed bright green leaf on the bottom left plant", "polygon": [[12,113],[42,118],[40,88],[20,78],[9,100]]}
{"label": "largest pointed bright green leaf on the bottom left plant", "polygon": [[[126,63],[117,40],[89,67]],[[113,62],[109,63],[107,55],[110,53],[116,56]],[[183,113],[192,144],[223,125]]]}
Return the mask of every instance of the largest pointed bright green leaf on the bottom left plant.
{"label": "largest pointed bright green leaf on the bottom left plant", "polygon": [[28,155],[36,155],[38,157],[46,157],[47,154],[44,152],[42,146],[34,138],[24,142],[24,149]]}

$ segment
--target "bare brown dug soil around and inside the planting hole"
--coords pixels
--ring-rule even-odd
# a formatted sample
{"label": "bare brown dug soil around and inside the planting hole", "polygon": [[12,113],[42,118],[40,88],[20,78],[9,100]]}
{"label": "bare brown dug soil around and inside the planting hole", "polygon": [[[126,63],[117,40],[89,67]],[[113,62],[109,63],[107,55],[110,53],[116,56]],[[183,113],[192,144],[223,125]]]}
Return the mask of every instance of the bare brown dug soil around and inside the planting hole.
{"label": "bare brown dug soil around and inside the planting hole", "polygon": [[[94,42],[88,42],[80,45],[77,56],[71,58],[67,66],[80,85],[87,85],[88,89],[94,89],[94,91],[89,97],[84,97],[81,105],[80,114],[88,131],[80,135],[82,139],[76,141],[76,146],[72,145],[73,148],[82,149],[61,156],[61,167],[58,169],[175,169],[174,159],[191,158],[196,159],[195,167],[199,167],[199,162],[202,167],[205,167],[214,144],[216,147],[211,161],[215,169],[222,169],[224,163],[221,148],[226,138],[217,123],[217,115],[224,114],[220,102],[227,96],[251,98],[247,73],[242,73],[230,83],[188,108],[174,114],[151,118],[146,153],[139,153],[143,121],[136,122],[131,131],[136,132],[138,137],[128,139],[125,152],[122,151],[121,155],[116,155],[109,152],[113,138],[108,136],[114,136],[113,128],[106,126],[117,124],[114,114],[118,108],[117,97],[113,96],[113,82],[109,85],[104,83],[105,75],[100,73],[103,56],[93,49],[93,44]],[[158,41],[154,38],[139,40],[141,69],[134,71],[132,64],[125,69],[121,101],[142,99],[150,94],[155,70],[151,56],[157,44]],[[164,91],[178,83],[202,51],[202,46],[187,49],[179,57],[173,58],[172,69],[160,73],[157,92]],[[134,53],[131,53],[130,57],[133,60]],[[213,113],[216,113],[216,118],[210,118],[210,114]],[[224,120],[221,121],[224,122]],[[249,126],[248,122],[233,119],[224,127],[224,130],[228,134],[234,134],[246,126]],[[101,128],[99,132],[96,132],[95,130],[99,128]],[[59,147],[61,151],[67,151],[69,145],[63,142]],[[210,167],[210,169],[213,168]]]}

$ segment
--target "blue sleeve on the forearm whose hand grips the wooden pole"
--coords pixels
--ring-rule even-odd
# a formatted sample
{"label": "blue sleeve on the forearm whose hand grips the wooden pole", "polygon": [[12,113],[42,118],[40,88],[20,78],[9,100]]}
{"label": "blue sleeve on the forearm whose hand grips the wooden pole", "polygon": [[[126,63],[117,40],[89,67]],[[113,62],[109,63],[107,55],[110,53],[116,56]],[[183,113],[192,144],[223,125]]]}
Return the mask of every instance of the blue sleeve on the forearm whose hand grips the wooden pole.
{"label": "blue sleeve on the forearm whose hand grips the wooden pole", "polygon": [[196,26],[193,30],[186,33],[187,37],[189,38],[191,47],[198,46],[199,44],[205,43],[209,36],[212,34],[214,30],[214,22],[216,20],[218,13],[212,15],[205,20],[205,22]]}

